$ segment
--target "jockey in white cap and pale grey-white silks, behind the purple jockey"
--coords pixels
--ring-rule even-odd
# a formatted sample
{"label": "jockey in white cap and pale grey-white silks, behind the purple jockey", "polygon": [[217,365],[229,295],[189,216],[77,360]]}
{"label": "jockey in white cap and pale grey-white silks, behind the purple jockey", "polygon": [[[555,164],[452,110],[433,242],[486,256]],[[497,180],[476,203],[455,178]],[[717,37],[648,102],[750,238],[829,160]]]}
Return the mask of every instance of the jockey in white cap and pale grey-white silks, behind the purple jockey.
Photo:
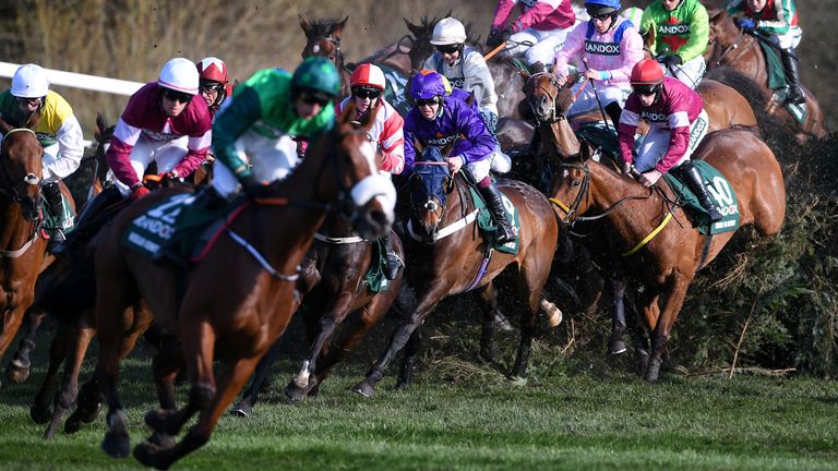
{"label": "jockey in white cap and pale grey-white silks, behind the purple jockey", "polygon": [[510,157],[501,150],[501,144],[498,142],[498,94],[494,92],[494,78],[483,55],[465,47],[465,43],[466,28],[463,23],[453,17],[440,20],[433,27],[431,37],[436,52],[424,61],[424,70],[436,71],[454,88],[475,95],[480,117],[495,140],[492,161],[498,160],[494,165],[499,165],[501,160],[510,161]]}

